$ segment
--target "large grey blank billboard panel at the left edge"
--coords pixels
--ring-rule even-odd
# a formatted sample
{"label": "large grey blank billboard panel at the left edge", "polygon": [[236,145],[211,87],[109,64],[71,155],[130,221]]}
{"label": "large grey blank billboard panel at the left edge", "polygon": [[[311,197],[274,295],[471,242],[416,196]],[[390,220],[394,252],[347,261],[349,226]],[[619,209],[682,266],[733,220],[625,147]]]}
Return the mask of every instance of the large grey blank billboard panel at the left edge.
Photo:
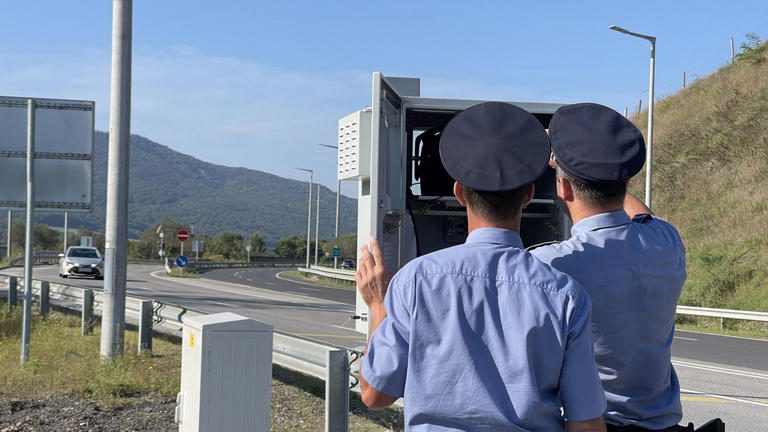
{"label": "large grey blank billboard panel at the left edge", "polygon": [[[29,99],[0,96],[0,209],[26,207]],[[35,209],[91,211],[94,103],[32,100]]]}

